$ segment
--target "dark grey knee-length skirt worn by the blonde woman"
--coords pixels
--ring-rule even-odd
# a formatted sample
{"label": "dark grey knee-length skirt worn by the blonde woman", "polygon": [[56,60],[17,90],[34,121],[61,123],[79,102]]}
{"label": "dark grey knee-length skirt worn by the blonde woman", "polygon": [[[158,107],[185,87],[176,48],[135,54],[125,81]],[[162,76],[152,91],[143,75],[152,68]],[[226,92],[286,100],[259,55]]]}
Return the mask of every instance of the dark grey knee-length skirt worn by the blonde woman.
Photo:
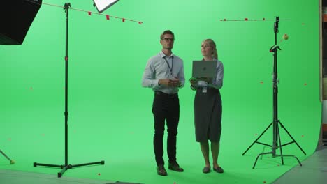
{"label": "dark grey knee-length skirt worn by the blonde woman", "polygon": [[199,88],[194,98],[194,124],[196,141],[220,141],[221,95],[219,90],[208,88],[206,93]]}

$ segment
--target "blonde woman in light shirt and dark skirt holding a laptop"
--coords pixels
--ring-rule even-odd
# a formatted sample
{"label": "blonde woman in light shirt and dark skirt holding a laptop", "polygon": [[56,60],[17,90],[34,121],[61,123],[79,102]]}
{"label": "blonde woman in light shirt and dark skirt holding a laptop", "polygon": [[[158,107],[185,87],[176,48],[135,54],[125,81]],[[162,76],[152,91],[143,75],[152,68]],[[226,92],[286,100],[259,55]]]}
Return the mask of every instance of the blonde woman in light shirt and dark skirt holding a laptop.
{"label": "blonde woman in light shirt and dark skirt holding a laptop", "polygon": [[203,55],[203,62],[217,61],[217,66],[216,77],[214,79],[203,79],[202,81],[191,80],[191,89],[196,91],[194,98],[196,141],[200,143],[205,160],[205,167],[202,170],[203,173],[209,173],[211,170],[209,150],[211,150],[212,155],[212,169],[218,173],[223,173],[224,169],[218,164],[218,155],[222,113],[219,89],[223,85],[224,66],[218,60],[216,44],[212,39],[203,40],[201,53]]}

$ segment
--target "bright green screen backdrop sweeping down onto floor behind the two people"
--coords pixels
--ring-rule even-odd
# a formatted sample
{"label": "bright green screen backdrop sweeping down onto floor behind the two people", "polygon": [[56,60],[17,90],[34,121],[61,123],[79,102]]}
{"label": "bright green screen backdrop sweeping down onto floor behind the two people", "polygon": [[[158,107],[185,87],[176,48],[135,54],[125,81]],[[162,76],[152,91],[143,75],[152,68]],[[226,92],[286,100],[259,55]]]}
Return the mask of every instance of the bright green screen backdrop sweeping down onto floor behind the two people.
{"label": "bright green screen backdrop sweeping down onto floor behind the two people", "polygon": [[[92,1],[43,1],[65,2],[96,12]],[[276,16],[282,49],[278,117],[307,155],[296,144],[284,146],[283,152],[300,160],[314,152],[321,122],[318,10],[319,1],[293,0],[122,0],[103,15],[69,10],[68,162],[106,164],[71,169],[64,176],[136,183],[271,183],[298,167],[293,158],[284,158],[282,165],[280,158],[265,155],[252,169],[256,155],[270,148],[254,144],[242,153],[273,121],[269,49],[275,44]],[[33,162],[64,164],[65,18],[63,8],[43,4],[22,45],[0,45],[0,148],[16,161],[10,165],[1,159],[1,169],[57,174],[60,169],[33,167]],[[249,21],[224,21],[245,18]],[[166,29],[175,33],[173,53],[184,60],[187,79],[191,61],[202,59],[202,40],[212,38],[217,44],[224,63],[219,153],[224,174],[202,174],[189,82],[180,89],[177,135],[177,160],[185,171],[156,174],[153,92],[141,87],[141,79],[147,59],[160,51],[159,36]],[[284,33],[289,40],[282,40]],[[282,144],[291,141],[279,130]],[[260,141],[272,144],[273,130]]]}

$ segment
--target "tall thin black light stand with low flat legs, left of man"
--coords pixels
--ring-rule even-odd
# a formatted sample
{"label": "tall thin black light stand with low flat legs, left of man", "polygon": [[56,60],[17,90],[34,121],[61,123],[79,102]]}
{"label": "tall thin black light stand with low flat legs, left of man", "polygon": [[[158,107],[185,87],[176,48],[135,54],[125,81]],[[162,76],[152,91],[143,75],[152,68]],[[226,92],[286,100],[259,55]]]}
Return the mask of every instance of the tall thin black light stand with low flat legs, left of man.
{"label": "tall thin black light stand with low flat legs, left of man", "polygon": [[48,166],[48,167],[59,167],[61,172],[58,173],[58,178],[60,178],[67,169],[72,169],[73,167],[80,167],[91,164],[104,164],[104,161],[91,162],[85,164],[68,164],[68,9],[71,8],[71,3],[65,3],[64,10],[66,12],[66,56],[65,56],[65,164],[55,165],[55,164],[40,164],[34,162],[34,167]]}

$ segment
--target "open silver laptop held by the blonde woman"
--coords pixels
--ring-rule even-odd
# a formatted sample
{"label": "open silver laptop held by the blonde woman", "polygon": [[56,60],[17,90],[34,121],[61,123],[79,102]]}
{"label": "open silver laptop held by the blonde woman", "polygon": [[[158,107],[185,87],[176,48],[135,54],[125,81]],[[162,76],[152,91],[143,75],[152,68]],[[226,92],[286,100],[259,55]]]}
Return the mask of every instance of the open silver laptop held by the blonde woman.
{"label": "open silver laptop held by the blonde woman", "polygon": [[215,78],[217,61],[193,61],[192,78]]}

